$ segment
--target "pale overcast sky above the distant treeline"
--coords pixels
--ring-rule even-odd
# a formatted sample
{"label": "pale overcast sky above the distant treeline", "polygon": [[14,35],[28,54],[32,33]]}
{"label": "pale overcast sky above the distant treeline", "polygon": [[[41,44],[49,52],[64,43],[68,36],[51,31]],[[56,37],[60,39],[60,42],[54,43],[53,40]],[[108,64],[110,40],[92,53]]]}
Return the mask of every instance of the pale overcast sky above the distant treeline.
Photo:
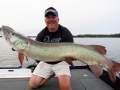
{"label": "pale overcast sky above the distant treeline", "polygon": [[59,24],[73,35],[120,33],[120,0],[0,0],[0,27],[36,36],[45,26],[44,11],[54,7]]}

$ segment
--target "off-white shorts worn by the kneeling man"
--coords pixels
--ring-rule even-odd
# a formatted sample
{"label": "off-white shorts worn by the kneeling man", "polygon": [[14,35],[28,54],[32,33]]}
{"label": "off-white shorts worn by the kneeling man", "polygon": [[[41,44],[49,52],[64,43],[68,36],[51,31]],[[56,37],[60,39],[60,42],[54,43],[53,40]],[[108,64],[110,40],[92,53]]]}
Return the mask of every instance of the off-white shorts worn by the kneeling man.
{"label": "off-white shorts worn by the kneeling man", "polygon": [[56,77],[59,77],[60,75],[71,76],[69,66],[70,65],[65,61],[61,61],[57,64],[48,64],[40,61],[33,74],[46,79],[53,73],[55,73]]}

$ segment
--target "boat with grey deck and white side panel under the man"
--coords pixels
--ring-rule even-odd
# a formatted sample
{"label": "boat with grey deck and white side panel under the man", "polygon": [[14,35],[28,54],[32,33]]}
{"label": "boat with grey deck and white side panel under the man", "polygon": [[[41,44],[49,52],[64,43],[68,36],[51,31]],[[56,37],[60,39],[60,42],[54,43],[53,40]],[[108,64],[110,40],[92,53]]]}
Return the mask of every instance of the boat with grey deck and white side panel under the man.
{"label": "boat with grey deck and white side panel under the man", "polygon": [[[16,74],[11,74],[11,78],[0,77],[0,90],[60,90],[58,79],[52,78],[45,85],[31,89],[28,85],[30,74],[34,71],[37,64],[31,64],[23,69],[22,66],[18,67],[0,67],[0,70],[8,70],[9,72],[17,70],[24,73],[20,77]],[[29,73],[26,73],[28,70]],[[112,83],[106,70],[100,77],[96,77],[86,64],[78,64],[71,67],[71,86],[72,90],[120,90],[120,74],[116,75],[116,83]],[[16,75],[16,76],[15,76]],[[9,74],[10,76],[10,74]],[[28,76],[28,77],[27,77]],[[15,78],[16,77],[16,78]]]}

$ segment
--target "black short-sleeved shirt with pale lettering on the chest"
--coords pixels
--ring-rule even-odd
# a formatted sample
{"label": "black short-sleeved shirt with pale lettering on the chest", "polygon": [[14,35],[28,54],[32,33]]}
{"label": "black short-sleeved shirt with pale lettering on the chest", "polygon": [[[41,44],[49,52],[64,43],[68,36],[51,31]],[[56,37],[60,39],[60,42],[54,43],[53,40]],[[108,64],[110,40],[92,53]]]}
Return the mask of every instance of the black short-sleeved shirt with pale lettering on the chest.
{"label": "black short-sleeved shirt with pale lettering on the chest", "polygon": [[[46,42],[46,43],[74,42],[71,32],[62,25],[59,25],[59,28],[56,32],[50,32],[48,28],[45,27],[40,33],[38,33],[36,37],[36,41]],[[46,62],[46,63],[56,64],[58,62],[59,61]]]}

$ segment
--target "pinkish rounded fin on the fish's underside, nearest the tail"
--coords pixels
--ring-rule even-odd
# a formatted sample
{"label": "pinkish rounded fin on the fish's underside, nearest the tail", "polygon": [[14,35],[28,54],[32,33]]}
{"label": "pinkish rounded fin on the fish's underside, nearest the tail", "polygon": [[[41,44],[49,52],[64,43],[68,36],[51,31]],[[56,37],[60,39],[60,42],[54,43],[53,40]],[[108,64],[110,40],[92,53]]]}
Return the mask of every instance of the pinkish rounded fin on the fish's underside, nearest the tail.
{"label": "pinkish rounded fin on the fish's underside, nearest the tail", "polygon": [[102,75],[103,69],[99,64],[89,65],[89,67],[97,77],[100,77]]}

